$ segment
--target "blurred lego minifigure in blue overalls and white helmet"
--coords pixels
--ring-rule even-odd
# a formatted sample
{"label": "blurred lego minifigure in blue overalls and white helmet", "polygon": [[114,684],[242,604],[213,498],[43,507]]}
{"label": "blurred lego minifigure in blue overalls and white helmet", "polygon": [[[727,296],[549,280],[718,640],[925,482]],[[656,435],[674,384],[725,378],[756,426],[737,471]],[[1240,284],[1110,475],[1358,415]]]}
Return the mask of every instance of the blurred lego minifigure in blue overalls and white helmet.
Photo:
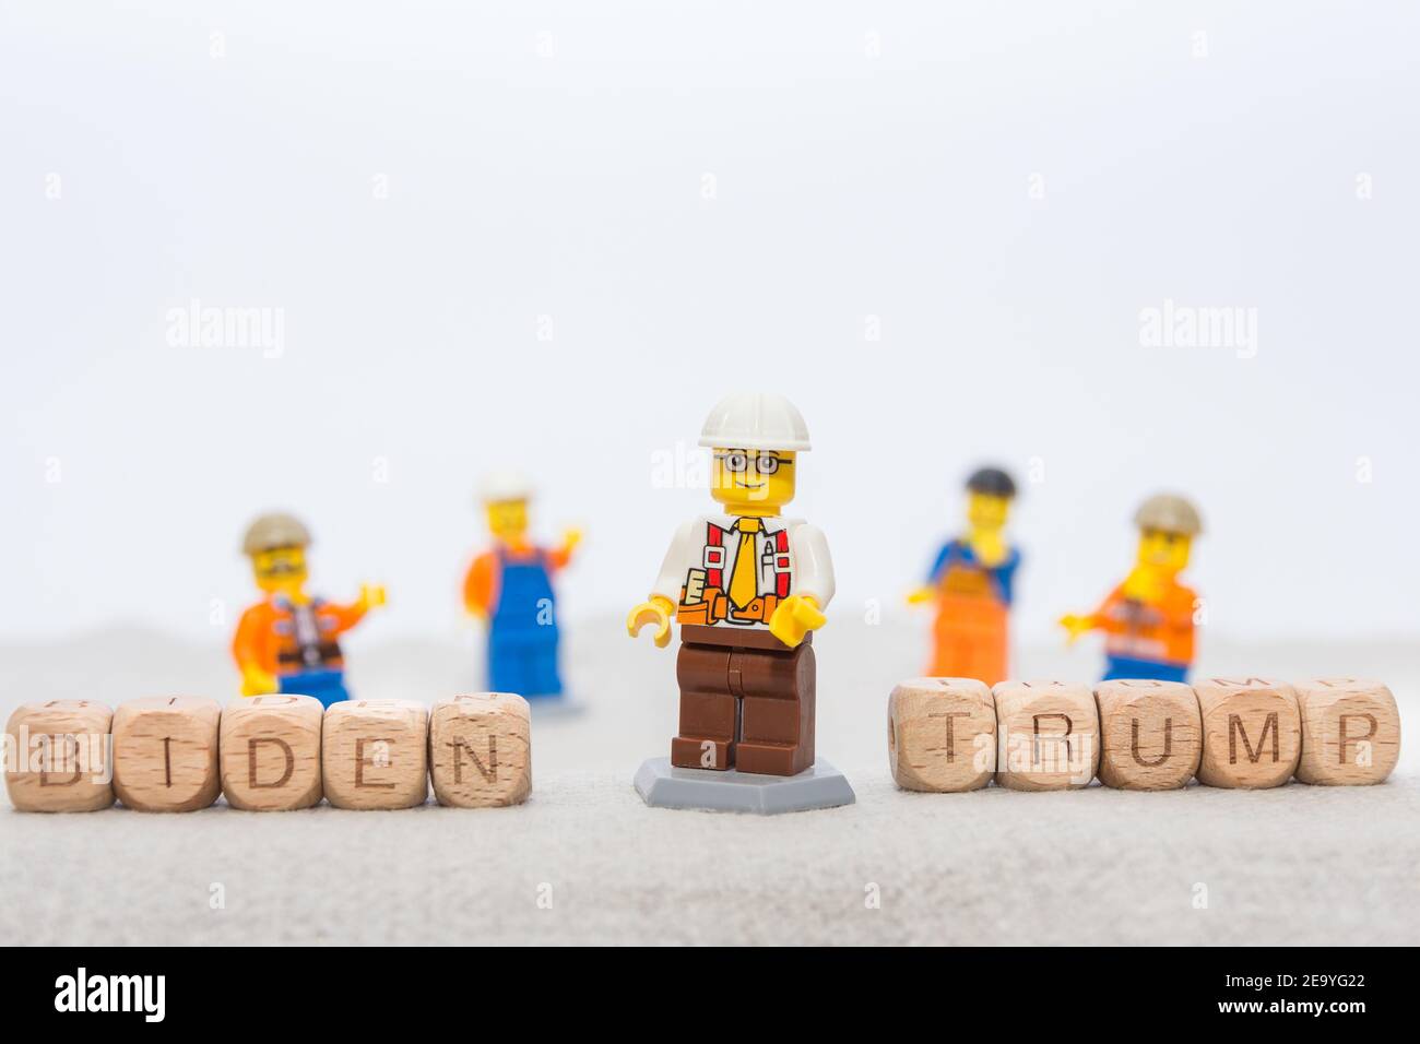
{"label": "blurred lego minifigure in blue overalls and white helmet", "polygon": [[572,558],[582,534],[568,530],[562,544],[544,548],[528,540],[532,490],[515,474],[493,476],[481,500],[493,550],[473,560],[463,581],[463,604],[487,622],[487,687],[527,699],[558,697],[558,626],[552,575]]}

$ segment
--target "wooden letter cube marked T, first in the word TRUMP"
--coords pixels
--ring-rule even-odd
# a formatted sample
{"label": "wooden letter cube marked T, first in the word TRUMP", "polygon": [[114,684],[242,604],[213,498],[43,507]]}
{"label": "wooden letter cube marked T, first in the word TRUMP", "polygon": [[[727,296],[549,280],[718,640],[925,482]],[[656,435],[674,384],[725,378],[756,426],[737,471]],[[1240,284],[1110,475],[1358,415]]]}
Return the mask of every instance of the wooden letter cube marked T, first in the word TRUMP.
{"label": "wooden letter cube marked T, first in the word TRUMP", "polygon": [[995,700],[985,682],[913,678],[888,697],[888,766],[903,790],[977,790],[995,774]]}

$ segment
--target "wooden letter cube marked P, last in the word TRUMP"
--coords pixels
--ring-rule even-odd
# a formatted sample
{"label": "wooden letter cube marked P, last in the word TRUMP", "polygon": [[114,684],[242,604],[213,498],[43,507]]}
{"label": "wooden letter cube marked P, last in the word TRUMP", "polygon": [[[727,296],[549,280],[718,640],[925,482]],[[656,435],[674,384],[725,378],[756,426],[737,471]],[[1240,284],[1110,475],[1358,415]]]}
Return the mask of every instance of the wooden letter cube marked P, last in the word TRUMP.
{"label": "wooden letter cube marked P, last in the word TRUMP", "polygon": [[1296,686],[1302,783],[1382,783],[1400,758],[1400,712],[1380,682],[1321,678]]}

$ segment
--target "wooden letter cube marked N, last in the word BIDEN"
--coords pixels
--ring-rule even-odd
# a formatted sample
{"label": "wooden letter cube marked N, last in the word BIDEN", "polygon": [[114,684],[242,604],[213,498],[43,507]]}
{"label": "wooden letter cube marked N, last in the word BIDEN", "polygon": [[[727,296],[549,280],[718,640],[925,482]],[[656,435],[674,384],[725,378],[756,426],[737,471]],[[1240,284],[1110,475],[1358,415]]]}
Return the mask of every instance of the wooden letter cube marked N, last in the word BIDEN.
{"label": "wooden letter cube marked N, last in the word BIDEN", "polygon": [[429,764],[442,805],[517,805],[532,791],[528,702],[506,692],[439,700],[429,724]]}

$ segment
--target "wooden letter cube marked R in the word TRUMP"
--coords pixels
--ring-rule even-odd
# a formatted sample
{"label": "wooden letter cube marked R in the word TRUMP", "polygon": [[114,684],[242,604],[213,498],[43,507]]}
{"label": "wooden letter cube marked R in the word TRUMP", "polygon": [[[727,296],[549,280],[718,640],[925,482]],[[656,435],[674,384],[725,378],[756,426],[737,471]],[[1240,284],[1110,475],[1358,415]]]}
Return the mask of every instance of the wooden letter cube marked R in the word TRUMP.
{"label": "wooden letter cube marked R in the word TRUMP", "polygon": [[1099,766],[1099,712],[1089,686],[1001,682],[993,695],[997,783],[1012,790],[1089,785]]}

